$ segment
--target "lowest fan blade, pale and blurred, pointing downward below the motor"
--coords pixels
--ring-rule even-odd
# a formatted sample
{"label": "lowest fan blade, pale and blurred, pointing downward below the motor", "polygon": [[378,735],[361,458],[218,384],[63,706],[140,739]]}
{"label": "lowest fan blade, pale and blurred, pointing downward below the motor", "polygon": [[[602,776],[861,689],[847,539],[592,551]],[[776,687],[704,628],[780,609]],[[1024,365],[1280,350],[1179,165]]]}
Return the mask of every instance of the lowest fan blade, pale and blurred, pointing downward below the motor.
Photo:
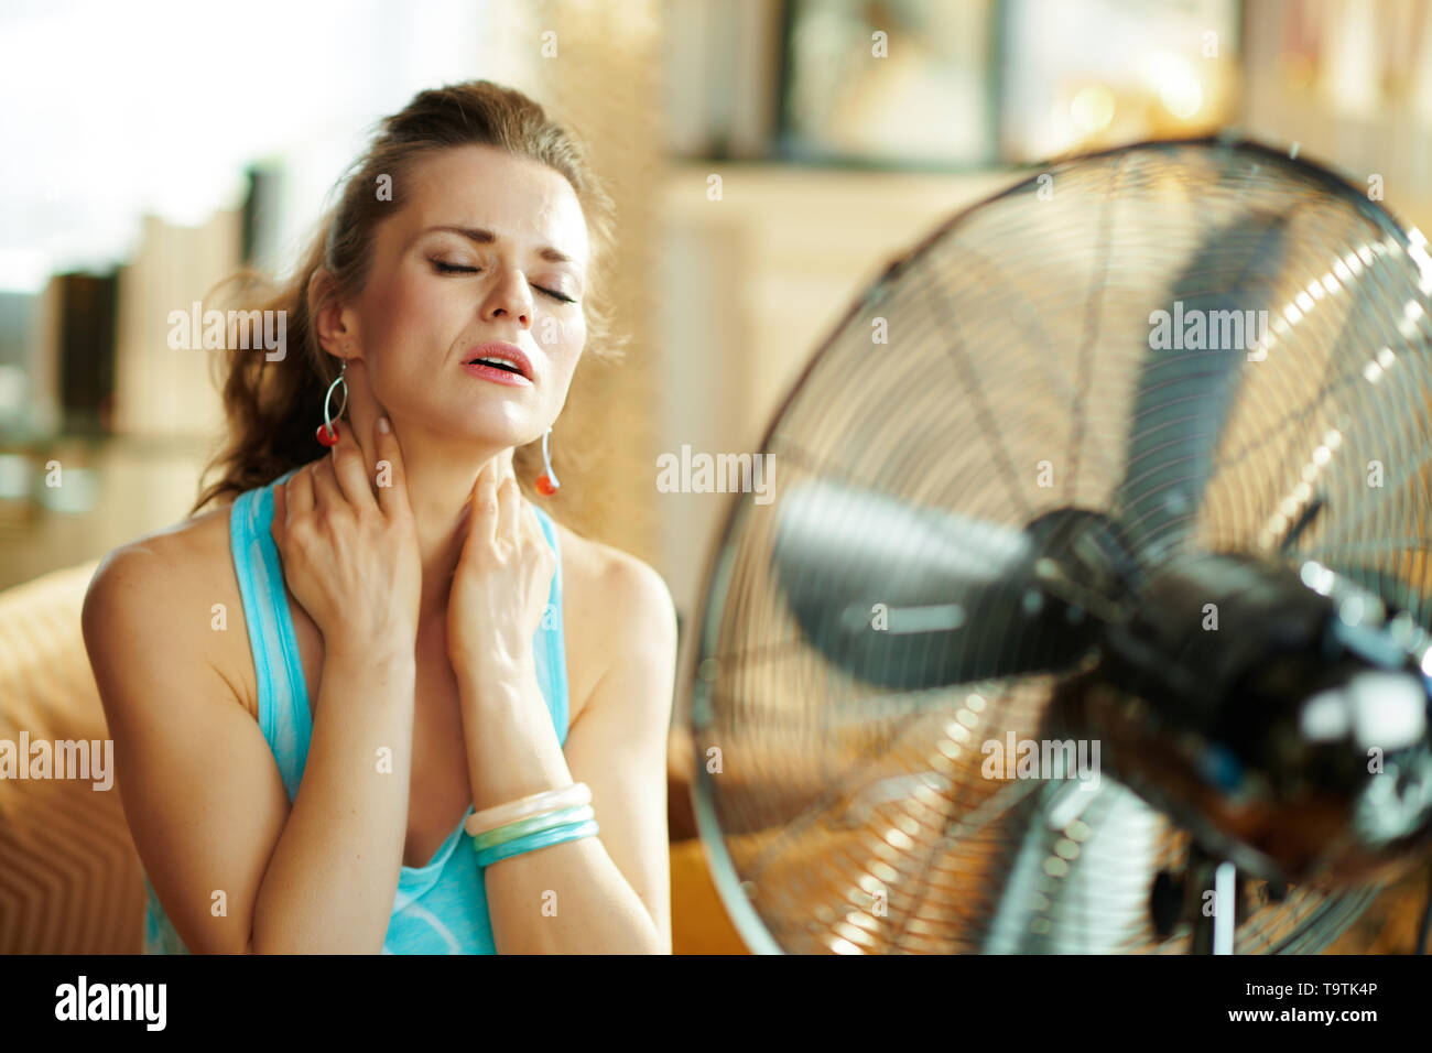
{"label": "lowest fan blade, pale and blurred, pointing downward below the motor", "polygon": [[1027,798],[985,954],[1113,954],[1144,941],[1164,818],[1107,774],[1094,785],[1051,779]]}

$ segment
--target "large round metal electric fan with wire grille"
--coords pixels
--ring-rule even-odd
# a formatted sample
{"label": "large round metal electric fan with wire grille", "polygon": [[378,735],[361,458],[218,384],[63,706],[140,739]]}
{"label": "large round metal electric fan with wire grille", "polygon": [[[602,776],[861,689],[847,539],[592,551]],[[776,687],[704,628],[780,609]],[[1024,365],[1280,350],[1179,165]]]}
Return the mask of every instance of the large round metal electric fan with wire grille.
{"label": "large round metal electric fan with wire grille", "polygon": [[848,312],[702,607],[756,951],[1327,946],[1432,841],[1432,259],[1226,139],[1048,168]]}

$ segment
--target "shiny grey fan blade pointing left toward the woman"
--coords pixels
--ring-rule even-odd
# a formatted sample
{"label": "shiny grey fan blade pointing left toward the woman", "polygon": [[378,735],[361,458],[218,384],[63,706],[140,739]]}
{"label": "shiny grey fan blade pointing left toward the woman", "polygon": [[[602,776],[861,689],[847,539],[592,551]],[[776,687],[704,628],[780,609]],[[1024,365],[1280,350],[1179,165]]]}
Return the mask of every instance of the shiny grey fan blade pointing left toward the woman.
{"label": "shiny grey fan blade pointing left toward the woman", "polygon": [[1063,668],[1097,622],[1035,579],[1041,546],[1012,527],[833,483],[779,506],[776,582],[812,646],[891,689]]}

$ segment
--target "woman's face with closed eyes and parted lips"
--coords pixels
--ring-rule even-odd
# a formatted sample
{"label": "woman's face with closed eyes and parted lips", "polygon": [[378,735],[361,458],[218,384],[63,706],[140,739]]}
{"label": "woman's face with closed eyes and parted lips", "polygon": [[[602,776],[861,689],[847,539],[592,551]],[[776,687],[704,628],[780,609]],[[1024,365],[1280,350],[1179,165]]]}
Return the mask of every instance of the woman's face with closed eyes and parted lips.
{"label": "woman's face with closed eyes and parted lips", "polygon": [[[530,443],[561,411],[587,337],[577,195],[546,165],[488,146],[430,155],[411,179],[402,209],[377,229],[362,294],[342,312],[361,380],[400,433]],[[530,383],[464,368],[491,341],[527,357]]]}

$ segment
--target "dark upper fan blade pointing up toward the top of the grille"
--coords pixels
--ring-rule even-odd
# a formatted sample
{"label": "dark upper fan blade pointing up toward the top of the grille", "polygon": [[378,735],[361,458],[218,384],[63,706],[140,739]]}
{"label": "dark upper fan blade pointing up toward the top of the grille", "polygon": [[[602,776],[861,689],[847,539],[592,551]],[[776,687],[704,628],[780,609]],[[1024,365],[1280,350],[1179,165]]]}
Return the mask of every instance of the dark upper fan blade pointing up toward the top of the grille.
{"label": "dark upper fan blade pointing up toward the top of the grille", "polygon": [[[1176,542],[1177,524],[1191,521],[1203,499],[1237,371],[1252,347],[1244,321],[1273,307],[1287,251],[1286,222],[1283,213],[1254,212],[1216,228],[1173,284],[1173,328],[1201,319],[1206,338],[1199,341],[1201,350],[1150,347],[1138,377],[1128,463],[1116,507],[1140,556],[1157,554],[1157,547]],[[1219,288],[1209,289],[1210,282]],[[1214,334],[1234,331],[1234,319],[1244,337],[1234,342],[1249,347],[1211,348]],[[1173,335],[1180,341],[1174,347],[1184,347],[1184,334]]]}

